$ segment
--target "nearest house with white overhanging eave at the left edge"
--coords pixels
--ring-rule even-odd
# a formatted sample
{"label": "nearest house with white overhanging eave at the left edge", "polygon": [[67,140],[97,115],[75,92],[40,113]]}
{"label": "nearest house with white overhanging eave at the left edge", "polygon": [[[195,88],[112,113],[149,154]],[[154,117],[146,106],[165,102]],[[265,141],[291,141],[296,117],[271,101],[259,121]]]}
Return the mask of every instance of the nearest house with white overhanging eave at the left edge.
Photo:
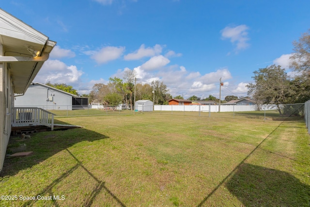
{"label": "nearest house with white overhanging eave at the left edge", "polygon": [[24,94],[56,45],[0,9],[0,171],[9,142],[14,94]]}

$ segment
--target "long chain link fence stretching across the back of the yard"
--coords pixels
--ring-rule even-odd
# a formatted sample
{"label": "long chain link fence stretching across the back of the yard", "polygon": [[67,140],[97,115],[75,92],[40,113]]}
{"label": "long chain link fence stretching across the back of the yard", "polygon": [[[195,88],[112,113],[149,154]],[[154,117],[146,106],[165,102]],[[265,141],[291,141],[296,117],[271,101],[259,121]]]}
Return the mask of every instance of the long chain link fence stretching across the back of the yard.
{"label": "long chain link fence stretching across the back of the yard", "polygon": [[[183,116],[201,117],[223,117],[233,118],[255,118],[262,120],[295,120],[305,116],[307,104],[286,105],[155,105],[139,107],[138,110],[125,106],[103,106],[86,105],[83,107],[58,106],[57,108],[47,106],[36,106],[55,114],[55,118],[64,116],[94,116],[94,115],[129,115],[129,114],[172,114]],[[21,107],[21,106],[18,106]],[[24,106],[26,107],[26,106]],[[309,113],[309,109],[308,109]],[[309,115],[308,123],[309,123]]]}

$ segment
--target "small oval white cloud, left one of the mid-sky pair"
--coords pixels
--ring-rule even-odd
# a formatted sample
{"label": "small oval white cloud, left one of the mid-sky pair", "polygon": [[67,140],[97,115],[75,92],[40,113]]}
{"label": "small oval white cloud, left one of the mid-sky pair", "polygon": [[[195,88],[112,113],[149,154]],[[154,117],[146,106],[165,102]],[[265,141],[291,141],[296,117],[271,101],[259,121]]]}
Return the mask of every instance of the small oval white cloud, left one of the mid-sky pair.
{"label": "small oval white cloud, left one of the mid-sky pair", "polygon": [[95,60],[97,64],[108,63],[109,61],[120,58],[124,50],[125,50],[124,47],[108,46],[101,48],[99,51],[94,52],[91,58]]}

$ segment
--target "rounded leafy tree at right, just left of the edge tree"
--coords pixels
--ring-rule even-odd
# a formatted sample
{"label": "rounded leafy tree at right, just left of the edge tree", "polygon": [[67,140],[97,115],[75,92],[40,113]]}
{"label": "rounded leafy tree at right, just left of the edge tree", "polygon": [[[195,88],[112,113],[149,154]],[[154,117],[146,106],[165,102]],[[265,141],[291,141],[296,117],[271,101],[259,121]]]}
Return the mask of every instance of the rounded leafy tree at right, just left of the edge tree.
{"label": "rounded leafy tree at right, just left of the edge tree", "polygon": [[[254,71],[255,83],[247,85],[248,95],[261,104],[286,104],[288,97],[294,95],[290,80],[281,66],[270,65]],[[279,113],[281,111],[278,107]]]}

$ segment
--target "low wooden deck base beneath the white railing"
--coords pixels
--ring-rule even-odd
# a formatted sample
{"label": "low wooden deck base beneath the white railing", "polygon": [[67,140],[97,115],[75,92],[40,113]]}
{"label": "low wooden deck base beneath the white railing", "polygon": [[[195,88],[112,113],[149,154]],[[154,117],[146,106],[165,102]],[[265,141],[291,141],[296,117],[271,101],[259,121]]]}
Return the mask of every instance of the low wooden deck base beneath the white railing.
{"label": "low wooden deck base beneath the white railing", "polygon": [[[63,125],[63,124],[54,124],[54,130],[60,129],[71,129],[71,128],[82,128],[81,126],[76,125]],[[20,127],[12,127],[11,135],[15,136],[17,134],[30,134],[34,132],[41,131],[51,131],[51,127],[47,126],[20,126]]]}

